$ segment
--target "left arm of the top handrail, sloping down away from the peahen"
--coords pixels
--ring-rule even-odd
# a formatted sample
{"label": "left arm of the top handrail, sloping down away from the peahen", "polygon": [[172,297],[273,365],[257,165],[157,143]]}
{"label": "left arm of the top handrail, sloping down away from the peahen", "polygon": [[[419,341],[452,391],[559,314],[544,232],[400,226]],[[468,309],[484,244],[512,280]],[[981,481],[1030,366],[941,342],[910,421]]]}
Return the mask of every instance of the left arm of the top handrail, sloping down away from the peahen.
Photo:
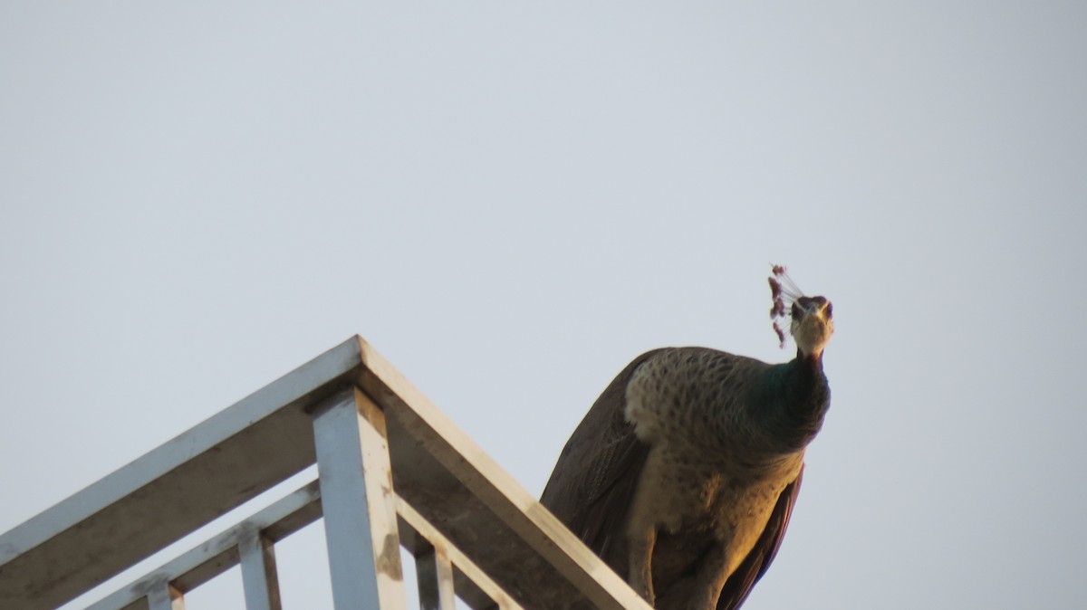
{"label": "left arm of the top handrail, sloping down away from the peahen", "polygon": [[55,608],[313,463],[351,339],[0,536],[0,608]]}

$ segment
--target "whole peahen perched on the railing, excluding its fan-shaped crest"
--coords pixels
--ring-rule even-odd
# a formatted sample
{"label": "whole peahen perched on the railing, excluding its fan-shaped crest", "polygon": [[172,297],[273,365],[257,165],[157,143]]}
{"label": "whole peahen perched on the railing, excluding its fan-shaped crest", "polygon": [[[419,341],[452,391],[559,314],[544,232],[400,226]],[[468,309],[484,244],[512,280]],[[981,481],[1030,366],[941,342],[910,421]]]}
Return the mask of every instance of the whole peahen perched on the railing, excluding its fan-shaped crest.
{"label": "whole peahen perched on the railing, excluding its fan-shaped crest", "polygon": [[642,354],[559,457],[541,501],[657,608],[738,608],[777,552],[829,405],[829,303],[792,309],[794,360]]}

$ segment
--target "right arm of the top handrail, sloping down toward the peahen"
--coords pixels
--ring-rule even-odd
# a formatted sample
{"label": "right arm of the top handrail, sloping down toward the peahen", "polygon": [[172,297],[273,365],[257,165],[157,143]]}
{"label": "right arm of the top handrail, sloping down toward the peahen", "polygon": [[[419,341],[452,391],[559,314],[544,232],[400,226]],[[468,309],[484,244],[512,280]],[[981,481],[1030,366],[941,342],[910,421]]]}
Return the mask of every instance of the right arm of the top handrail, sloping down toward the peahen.
{"label": "right arm of the top handrail, sloping down toward the peahen", "polygon": [[379,354],[365,343],[361,354],[358,383],[388,414],[398,494],[513,599],[541,610],[650,610]]}

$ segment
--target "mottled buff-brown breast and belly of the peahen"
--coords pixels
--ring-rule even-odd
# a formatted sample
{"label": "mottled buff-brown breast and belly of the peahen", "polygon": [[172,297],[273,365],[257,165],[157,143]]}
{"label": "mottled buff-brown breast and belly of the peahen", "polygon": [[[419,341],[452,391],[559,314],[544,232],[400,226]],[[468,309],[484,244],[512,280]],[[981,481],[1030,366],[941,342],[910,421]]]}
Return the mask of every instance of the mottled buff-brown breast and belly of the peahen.
{"label": "mottled buff-brown breast and belly of the peahen", "polygon": [[772,454],[758,442],[762,432],[745,404],[745,387],[753,383],[746,378],[757,365],[713,350],[678,348],[635,371],[625,416],[650,449],[630,529],[697,530],[754,544],[803,461],[803,452]]}

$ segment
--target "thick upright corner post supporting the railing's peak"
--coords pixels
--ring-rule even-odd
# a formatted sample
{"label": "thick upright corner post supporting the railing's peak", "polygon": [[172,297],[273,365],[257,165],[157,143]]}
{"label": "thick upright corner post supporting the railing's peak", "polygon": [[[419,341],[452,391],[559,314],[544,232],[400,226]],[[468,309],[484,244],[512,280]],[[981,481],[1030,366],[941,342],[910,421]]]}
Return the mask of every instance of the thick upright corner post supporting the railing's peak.
{"label": "thick upright corner post supporting the railing's peak", "polygon": [[313,421],[333,602],[405,610],[385,414],[359,389]]}

